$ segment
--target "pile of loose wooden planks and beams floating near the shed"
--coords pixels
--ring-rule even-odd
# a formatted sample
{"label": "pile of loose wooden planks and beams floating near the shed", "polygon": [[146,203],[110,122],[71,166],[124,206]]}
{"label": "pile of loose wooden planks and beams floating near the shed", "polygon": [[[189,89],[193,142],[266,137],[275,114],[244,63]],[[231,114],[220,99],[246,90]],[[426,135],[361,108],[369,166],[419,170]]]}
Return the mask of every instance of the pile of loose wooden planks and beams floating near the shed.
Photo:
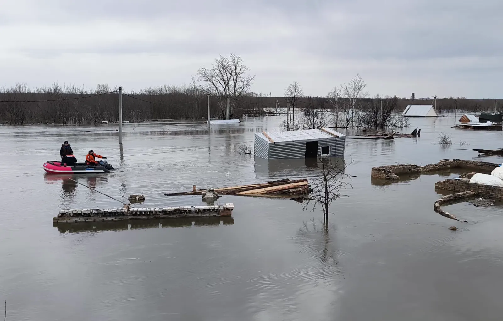
{"label": "pile of loose wooden planks and beams floating near the shed", "polygon": [[[183,195],[201,195],[206,189],[193,189],[189,192],[167,193],[165,196],[183,196]],[[250,184],[241,186],[215,188],[214,191],[219,195],[242,195],[259,197],[303,197],[307,195],[311,188],[307,179],[293,180],[289,179],[266,182],[262,184]]]}

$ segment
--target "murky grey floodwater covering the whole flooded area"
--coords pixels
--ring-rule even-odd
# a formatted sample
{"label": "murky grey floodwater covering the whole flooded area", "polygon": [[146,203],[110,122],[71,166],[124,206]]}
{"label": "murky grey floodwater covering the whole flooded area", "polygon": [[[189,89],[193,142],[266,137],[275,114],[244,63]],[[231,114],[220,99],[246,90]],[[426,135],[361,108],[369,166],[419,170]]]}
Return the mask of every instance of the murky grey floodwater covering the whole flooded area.
{"label": "murky grey floodwater covering the whole flooded area", "polygon": [[[411,119],[406,131],[419,127],[420,138],[348,140],[346,173],[356,177],[349,197],[331,206],[328,232],[321,213],[295,201],[231,196],[219,200],[235,205],[225,220],[52,225],[60,207],[121,206],[44,174],[64,140],[77,159],[92,148],[117,168],[80,183],[124,201],[144,194],[144,206],[198,205],[199,196],[163,194],[315,177],[317,165],[304,159],[237,153],[236,143],[280,122],[249,118],[209,134],[201,124],[125,124],[123,156],[117,125],[1,126],[7,320],[501,320],[502,207],[448,206],[470,222],[460,223],[433,211],[434,184],[445,176],[391,185],[370,178],[374,166],[472,159],[476,152],[463,149],[503,147],[503,132],[455,130],[452,117]],[[435,143],[440,131],[452,135],[451,149]]]}

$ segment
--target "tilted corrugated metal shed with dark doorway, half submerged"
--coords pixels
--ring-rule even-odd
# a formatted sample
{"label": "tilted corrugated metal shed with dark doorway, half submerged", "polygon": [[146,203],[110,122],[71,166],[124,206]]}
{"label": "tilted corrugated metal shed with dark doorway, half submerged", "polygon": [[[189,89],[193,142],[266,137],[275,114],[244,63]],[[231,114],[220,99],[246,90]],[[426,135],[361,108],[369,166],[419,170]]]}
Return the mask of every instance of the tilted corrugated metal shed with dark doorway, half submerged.
{"label": "tilted corrugated metal shed with dark doorway, half submerged", "polygon": [[343,156],[346,135],[330,128],[274,131],[255,134],[254,154],[261,158]]}

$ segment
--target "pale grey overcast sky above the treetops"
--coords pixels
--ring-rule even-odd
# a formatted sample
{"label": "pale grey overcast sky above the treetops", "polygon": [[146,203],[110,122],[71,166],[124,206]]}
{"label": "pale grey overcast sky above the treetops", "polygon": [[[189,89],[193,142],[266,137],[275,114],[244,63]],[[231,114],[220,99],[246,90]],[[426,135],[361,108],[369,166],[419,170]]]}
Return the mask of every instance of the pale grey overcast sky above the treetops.
{"label": "pale grey overcast sky above the treetops", "polygon": [[371,95],[503,98],[502,0],[5,0],[0,35],[0,87],[183,85],[235,52],[273,96],[360,73]]}

